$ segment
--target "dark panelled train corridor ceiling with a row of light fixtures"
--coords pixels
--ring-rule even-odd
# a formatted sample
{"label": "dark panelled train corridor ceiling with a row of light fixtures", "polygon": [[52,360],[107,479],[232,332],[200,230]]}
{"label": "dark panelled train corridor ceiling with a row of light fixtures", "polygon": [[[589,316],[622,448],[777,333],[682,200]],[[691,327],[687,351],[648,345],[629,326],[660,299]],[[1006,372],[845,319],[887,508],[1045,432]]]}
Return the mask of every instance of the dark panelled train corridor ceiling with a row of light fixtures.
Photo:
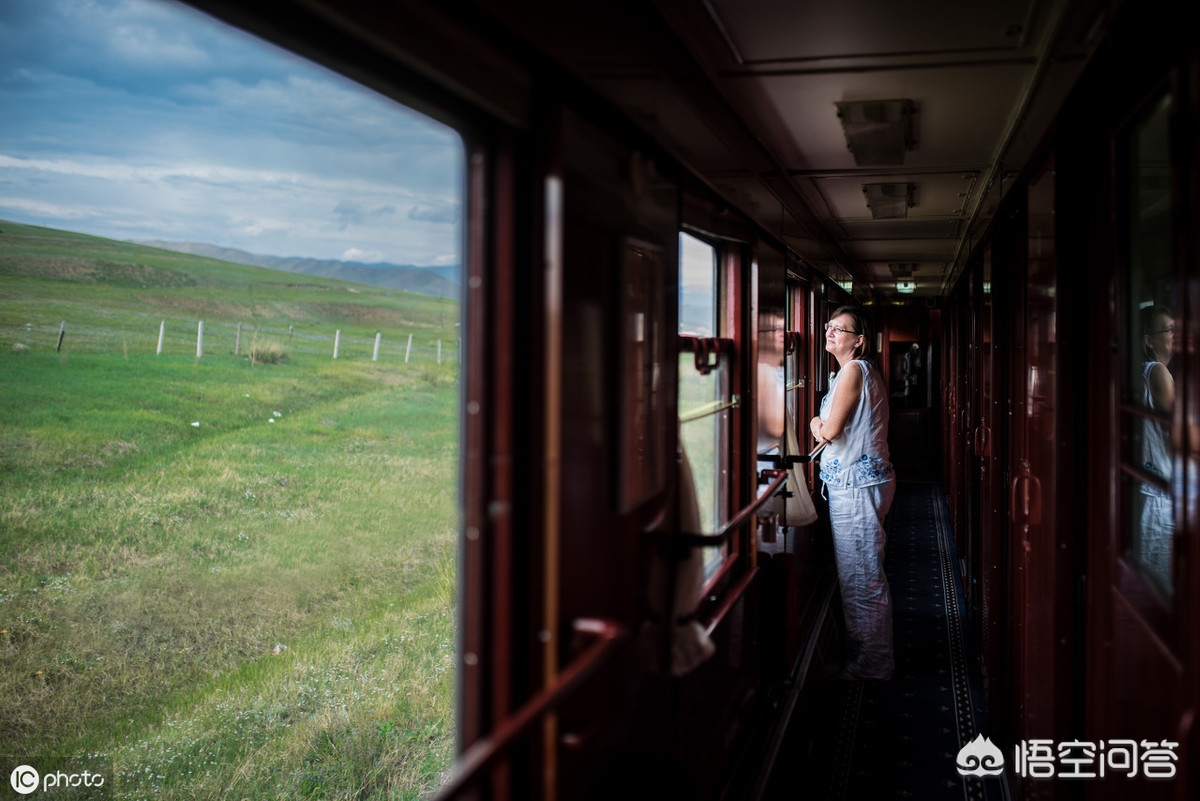
{"label": "dark panelled train corridor ceiling with a row of light fixtures", "polygon": [[[481,5],[858,297],[924,302],[952,288],[1111,4]],[[632,6],[658,16],[632,25]]]}

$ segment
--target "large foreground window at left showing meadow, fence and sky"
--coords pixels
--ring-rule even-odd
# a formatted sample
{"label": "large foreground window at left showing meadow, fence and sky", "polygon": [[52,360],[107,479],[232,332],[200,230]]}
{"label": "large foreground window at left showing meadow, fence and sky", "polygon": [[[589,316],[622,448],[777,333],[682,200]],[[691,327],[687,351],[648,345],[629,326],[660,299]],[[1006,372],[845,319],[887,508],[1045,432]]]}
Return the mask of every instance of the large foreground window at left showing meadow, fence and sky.
{"label": "large foreground window at left showing meadow, fence and sky", "polygon": [[173,2],[0,2],[0,753],[433,790],[458,134]]}

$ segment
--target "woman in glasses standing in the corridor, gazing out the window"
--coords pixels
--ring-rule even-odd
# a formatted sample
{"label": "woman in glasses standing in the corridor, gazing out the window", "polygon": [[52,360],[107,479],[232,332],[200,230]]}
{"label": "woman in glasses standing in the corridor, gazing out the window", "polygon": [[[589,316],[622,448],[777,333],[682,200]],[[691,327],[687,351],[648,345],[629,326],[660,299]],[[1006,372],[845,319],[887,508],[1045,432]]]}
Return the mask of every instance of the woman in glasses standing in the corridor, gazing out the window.
{"label": "woman in glasses standing in the corridor, gazing out the window", "polygon": [[838,374],[809,422],[829,501],[838,580],[846,619],[847,679],[890,679],[892,601],[883,574],[883,518],[895,495],[888,453],[888,395],[871,355],[866,309],[842,306],[826,324]]}

